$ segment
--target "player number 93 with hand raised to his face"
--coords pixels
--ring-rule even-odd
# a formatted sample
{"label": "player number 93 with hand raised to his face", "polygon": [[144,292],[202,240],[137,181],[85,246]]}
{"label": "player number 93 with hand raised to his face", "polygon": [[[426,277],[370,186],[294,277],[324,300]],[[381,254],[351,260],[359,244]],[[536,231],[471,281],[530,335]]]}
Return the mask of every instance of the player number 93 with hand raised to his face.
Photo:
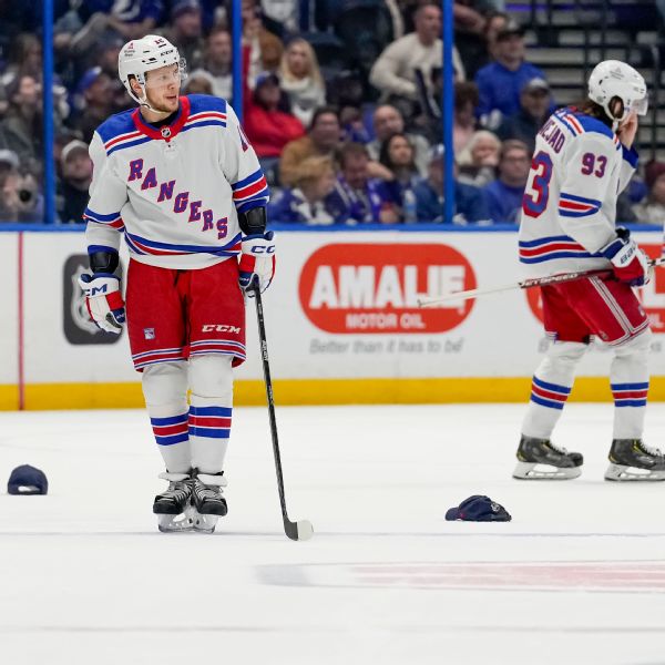
{"label": "player number 93 with hand raised to his face", "polygon": [[601,62],[580,109],[556,111],[538,134],[520,225],[520,262],[530,277],[611,269],[542,288],[552,344],[535,370],[522,426],[521,479],[570,479],[582,456],[551,441],[575,367],[592,338],[614,351],[610,382],[614,428],[607,480],[665,480],[665,458],[643,440],[648,390],[648,319],[633,291],[649,279],[647,258],[615,227],[616,198],[637,164],[637,116],[646,113],[644,79],[632,66]]}

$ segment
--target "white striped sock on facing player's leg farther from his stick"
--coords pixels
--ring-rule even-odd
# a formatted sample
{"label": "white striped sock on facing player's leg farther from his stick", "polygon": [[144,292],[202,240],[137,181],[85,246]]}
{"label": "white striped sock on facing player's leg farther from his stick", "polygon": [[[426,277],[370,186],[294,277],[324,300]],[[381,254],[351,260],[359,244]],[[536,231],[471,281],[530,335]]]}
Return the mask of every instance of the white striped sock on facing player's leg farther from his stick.
{"label": "white striped sock on facing player's leg farther from his stick", "polygon": [[187,366],[161,362],[143,370],[143,395],[166,471],[187,473],[191,468],[188,437]]}

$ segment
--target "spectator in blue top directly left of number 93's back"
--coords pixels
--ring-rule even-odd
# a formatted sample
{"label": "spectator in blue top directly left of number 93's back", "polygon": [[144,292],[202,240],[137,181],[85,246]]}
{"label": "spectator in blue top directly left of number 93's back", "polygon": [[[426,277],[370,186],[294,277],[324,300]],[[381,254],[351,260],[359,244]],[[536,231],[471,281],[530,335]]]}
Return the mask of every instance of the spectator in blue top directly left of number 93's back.
{"label": "spectator in blue top directly left of number 93's back", "polygon": [[531,153],[524,143],[511,140],[501,146],[499,177],[483,190],[492,222],[519,222],[530,166]]}

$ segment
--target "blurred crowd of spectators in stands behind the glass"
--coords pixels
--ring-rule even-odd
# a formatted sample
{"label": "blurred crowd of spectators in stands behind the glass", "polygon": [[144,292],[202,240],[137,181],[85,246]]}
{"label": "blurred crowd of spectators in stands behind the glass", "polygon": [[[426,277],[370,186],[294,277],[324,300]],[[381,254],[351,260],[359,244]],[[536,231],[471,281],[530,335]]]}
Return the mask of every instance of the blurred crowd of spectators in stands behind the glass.
{"label": "blurred crowd of spectators in stands behind the glass", "polygon": [[[0,0],[0,219],[43,218],[39,4]],[[231,2],[55,0],[60,223],[81,223],[86,144],[133,106],[117,79],[130,39],[186,58],[184,93],[233,103]],[[440,2],[243,0],[243,123],[272,188],[273,222],[443,222]],[[453,224],[519,222],[535,135],[556,109],[502,0],[456,0]],[[583,96],[581,91],[581,98]],[[665,164],[622,197],[623,221],[665,221]]]}

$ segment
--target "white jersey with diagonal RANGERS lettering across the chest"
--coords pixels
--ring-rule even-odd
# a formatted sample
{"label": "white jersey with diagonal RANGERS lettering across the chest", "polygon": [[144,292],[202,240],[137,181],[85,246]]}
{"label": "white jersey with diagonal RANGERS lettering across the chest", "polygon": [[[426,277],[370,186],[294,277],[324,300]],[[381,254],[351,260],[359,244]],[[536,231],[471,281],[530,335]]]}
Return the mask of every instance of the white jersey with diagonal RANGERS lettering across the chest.
{"label": "white jersey with diagonal RANGERS lettering across the chest", "polygon": [[268,202],[268,186],[233,109],[182,96],[170,125],[139,109],[112,115],[90,144],[94,164],[88,250],[117,250],[165,268],[204,268],[241,252],[238,212]]}

